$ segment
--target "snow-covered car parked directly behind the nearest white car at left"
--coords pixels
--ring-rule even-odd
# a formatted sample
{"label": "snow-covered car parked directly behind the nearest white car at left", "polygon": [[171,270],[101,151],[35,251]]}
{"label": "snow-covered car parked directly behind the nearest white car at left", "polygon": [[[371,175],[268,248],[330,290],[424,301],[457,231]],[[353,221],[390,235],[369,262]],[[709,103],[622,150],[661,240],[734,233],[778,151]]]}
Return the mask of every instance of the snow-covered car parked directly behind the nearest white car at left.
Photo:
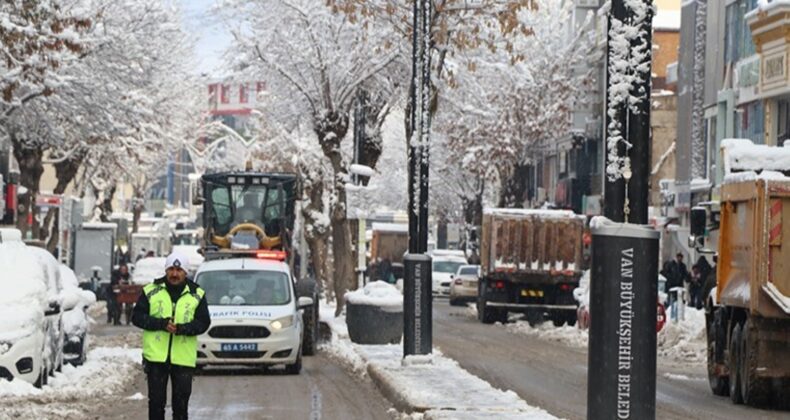
{"label": "snow-covered car parked directly behind the nearest white car at left", "polygon": [[[63,312],[67,309],[63,306],[63,282],[60,278],[60,263],[46,249],[28,246],[30,252],[44,268],[47,285],[47,372],[51,375],[55,371],[60,372],[63,368],[63,343],[65,333],[63,331]],[[70,309],[70,308],[69,308]]]}

